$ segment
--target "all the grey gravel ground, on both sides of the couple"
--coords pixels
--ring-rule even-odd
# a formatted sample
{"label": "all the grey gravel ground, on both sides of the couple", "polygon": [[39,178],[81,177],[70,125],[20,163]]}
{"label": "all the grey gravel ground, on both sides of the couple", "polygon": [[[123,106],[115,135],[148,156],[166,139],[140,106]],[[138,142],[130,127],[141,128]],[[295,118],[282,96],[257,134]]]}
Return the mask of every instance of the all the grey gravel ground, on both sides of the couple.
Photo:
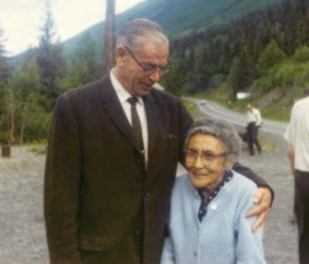
{"label": "all the grey gravel ground, on both sides of the couple", "polygon": [[[279,136],[261,136],[265,151],[253,157],[244,152],[240,160],[264,177],[276,194],[264,235],[266,260],[296,264],[296,226],[290,224],[293,179],[286,143]],[[0,264],[48,263],[43,221],[45,155],[30,150],[13,147],[11,158],[0,158]]]}

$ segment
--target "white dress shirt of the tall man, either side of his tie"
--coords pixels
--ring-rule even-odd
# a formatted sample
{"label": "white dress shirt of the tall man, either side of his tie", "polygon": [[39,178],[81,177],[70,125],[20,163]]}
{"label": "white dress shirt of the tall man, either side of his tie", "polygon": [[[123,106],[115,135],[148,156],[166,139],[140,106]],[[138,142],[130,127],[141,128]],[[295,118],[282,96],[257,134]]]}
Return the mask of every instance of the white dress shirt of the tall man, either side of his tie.
{"label": "white dress shirt of the tall man, either side of his tie", "polygon": [[[127,116],[130,125],[132,126],[132,118],[131,118],[131,105],[128,102],[128,99],[132,97],[122,84],[118,81],[116,76],[113,74],[113,70],[111,70],[111,83],[113,84],[113,88],[116,91],[118,99],[120,101],[120,105],[123,107],[123,111],[125,111],[125,116]],[[147,167],[148,162],[148,128],[147,128],[147,116],[145,111],[145,104],[142,101],[142,97],[137,97],[136,111],[140,118],[140,125],[142,126],[142,141],[144,143],[145,150],[145,166]]]}

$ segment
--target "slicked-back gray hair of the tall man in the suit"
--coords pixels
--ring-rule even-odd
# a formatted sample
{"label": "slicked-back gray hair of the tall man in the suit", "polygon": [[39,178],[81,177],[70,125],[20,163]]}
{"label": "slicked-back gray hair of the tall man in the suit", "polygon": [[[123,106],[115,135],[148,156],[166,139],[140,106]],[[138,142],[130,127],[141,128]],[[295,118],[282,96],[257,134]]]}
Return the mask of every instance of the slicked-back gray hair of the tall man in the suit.
{"label": "slicked-back gray hair of the tall man in the suit", "polygon": [[133,53],[137,53],[142,41],[148,41],[158,45],[169,44],[169,40],[159,26],[146,18],[138,18],[126,23],[120,28],[117,35],[117,48],[121,45],[130,48]]}

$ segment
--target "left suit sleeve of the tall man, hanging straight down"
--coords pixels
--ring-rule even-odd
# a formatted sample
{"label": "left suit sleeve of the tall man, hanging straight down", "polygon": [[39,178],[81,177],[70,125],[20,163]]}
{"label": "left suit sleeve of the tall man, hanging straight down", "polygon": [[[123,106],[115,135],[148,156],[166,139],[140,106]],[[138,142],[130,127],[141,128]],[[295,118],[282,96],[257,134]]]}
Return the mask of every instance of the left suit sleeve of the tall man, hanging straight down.
{"label": "left suit sleeve of the tall man, hanging straight down", "polygon": [[80,179],[77,122],[64,94],[55,106],[45,165],[44,215],[51,264],[82,263],[77,239]]}

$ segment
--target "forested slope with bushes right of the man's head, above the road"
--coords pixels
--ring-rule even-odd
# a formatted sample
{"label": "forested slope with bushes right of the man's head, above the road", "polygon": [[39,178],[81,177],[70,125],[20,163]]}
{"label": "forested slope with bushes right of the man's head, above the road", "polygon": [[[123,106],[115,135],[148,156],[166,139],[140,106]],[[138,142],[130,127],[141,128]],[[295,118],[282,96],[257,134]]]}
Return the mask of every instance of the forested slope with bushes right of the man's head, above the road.
{"label": "forested slope with bushes right of the man's head, above the road", "polygon": [[[172,41],[174,76],[164,79],[164,87],[236,111],[250,102],[264,117],[288,121],[291,106],[309,87],[308,47],[308,1],[279,1],[228,26]],[[237,100],[238,92],[251,97]]]}

